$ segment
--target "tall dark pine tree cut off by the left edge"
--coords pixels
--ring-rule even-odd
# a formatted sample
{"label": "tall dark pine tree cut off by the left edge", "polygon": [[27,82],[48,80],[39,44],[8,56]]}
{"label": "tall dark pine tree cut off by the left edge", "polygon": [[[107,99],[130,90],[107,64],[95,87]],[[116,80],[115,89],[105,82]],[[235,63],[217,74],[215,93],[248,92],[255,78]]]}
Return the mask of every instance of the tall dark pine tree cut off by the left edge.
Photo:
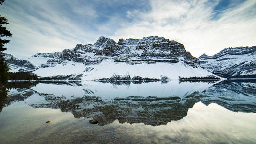
{"label": "tall dark pine tree cut off by the left edge", "polygon": [[[4,0],[0,0],[1,5],[3,4],[3,2]],[[11,32],[8,31],[6,27],[3,27],[4,24],[9,24],[9,23],[7,23],[6,18],[0,16],[0,83],[2,84],[6,83],[8,80],[8,66],[1,52],[6,50],[6,48],[4,47],[4,44],[10,42],[10,40],[6,40],[2,38],[12,36]]]}

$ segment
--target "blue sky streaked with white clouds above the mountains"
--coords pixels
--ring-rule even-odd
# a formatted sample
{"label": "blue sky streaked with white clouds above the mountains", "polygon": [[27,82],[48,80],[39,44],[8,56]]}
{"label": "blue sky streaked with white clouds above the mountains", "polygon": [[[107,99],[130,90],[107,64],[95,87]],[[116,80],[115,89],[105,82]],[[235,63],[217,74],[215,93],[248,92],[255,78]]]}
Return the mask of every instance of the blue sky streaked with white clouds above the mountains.
{"label": "blue sky streaked with white clouds above the mountains", "polygon": [[18,58],[100,36],[165,37],[195,57],[256,45],[256,0],[5,0],[0,15],[13,34],[5,53]]}

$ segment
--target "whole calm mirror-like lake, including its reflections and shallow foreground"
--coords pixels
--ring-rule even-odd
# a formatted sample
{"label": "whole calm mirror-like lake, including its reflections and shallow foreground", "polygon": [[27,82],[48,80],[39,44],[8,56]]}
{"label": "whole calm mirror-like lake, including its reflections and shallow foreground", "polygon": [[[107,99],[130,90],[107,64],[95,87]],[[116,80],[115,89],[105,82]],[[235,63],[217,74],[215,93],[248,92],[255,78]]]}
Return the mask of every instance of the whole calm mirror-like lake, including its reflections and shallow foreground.
{"label": "whole calm mirror-like lake, including its reflections and shallow foreground", "polygon": [[1,144],[256,144],[254,80],[7,87]]}

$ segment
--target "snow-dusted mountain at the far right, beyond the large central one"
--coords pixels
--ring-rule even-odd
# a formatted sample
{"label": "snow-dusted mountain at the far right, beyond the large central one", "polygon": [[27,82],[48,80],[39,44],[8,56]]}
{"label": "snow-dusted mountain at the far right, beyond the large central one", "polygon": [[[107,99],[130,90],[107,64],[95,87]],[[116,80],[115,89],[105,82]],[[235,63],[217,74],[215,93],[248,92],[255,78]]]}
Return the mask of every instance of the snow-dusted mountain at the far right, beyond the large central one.
{"label": "snow-dusted mountain at the far right, beyond the large central one", "polygon": [[256,46],[225,48],[213,56],[203,54],[199,63],[222,77],[256,77]]}

